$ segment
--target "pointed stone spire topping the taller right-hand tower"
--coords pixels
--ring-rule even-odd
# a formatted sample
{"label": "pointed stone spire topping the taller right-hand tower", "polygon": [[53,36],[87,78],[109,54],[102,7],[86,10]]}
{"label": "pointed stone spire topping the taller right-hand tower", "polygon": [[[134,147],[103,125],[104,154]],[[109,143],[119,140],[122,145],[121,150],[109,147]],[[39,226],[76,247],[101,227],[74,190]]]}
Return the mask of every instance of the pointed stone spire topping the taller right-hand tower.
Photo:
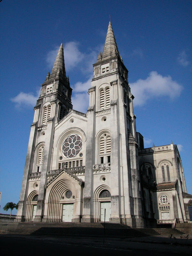
{"label": "pointed stone spire topping the taller right-hand tower", "polygon": [[109,59],[112,55],[112,52],[114,54],[114,50],[116,50],[116,55],[119,55],[115,36],[113,33],[113,28],[111,26],[111,21],[109,21],[107,36],[105,39],[105,44],[104,44],[103,53],[102,53],[102,61]]}

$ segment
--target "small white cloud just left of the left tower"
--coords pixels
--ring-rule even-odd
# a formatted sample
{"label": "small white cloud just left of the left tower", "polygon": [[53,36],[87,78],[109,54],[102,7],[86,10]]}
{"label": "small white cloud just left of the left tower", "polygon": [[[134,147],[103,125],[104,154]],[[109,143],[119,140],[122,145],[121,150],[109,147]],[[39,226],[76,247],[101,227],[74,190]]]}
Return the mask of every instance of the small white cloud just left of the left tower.
{"label": "small white cloud just left of the left tower", "polygon": [[36,95],[33,95],[30,92],[20,92],[17,96],[11,98],[11,101],[16,104],[17,108],[20,108],[21,106],[34,107],[36,105],[36,100],[38,99],[38,97],[39,91],[37,91]]}

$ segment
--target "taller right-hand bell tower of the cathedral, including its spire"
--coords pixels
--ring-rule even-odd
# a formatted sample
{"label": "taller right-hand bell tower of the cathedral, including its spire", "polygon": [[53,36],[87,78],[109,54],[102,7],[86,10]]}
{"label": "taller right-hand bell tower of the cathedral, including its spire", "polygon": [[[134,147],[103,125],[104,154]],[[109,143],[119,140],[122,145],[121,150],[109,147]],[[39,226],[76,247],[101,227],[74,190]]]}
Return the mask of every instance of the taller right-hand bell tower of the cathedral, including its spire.
{"label": "taller right-hand bell tower of the cathedral, including its spire", "polygon": [[[140,175],[136,117],[132,104],[134,96],[129,87],[128,70],[119,54],[111,22],[108,25],[103,52],[99,53],[96,63],[93,64],[93,78],[88,93],[82,220],[98,219],[103,200],[100,195],[103,195],[102,191],[108,190],[109,221],[135,222],[136,219],[142,219],[142,207],[138,188]],[[104,184],[100,182],[98,173],[103,174]],[[97,186],[101,188],[98,195],[93,193]],[[109,198],[106,200],[109,204]]]}

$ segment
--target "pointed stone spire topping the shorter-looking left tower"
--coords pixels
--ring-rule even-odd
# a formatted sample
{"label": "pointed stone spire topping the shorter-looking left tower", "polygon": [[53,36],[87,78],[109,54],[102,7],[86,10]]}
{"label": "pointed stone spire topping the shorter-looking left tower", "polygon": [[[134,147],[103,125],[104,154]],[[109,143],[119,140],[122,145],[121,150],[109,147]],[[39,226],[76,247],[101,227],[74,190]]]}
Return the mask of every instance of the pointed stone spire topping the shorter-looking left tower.
{"label": "pointed stone spire topping the shorter-looking left tower", "polygon": [[63,79],[66,79],[65,62],[64,62],[64,55],[63,55],[63,44],[62,43],[61,43],[59,51],[57,53],[57,57],[55,59],[55,63],[53,65],[49,79],[55,78],[56,75],[60,75]]}

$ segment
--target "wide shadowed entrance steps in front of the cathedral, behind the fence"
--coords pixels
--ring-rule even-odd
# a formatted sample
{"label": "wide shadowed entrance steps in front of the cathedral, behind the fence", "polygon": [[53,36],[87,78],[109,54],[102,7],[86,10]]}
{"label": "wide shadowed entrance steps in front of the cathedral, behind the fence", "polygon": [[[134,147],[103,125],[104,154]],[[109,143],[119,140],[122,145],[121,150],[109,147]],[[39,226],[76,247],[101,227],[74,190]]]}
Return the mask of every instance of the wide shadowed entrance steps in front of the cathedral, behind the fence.
{"label": "wide shadowed entrance steps in front of the cathedral, behind the fence", "polygon": [[130,237],[176,237],[180,238],[183,232],[175,228],[131,228],[118,223],[74,223],[74,222],[19,222],[0,223],[1,234],[18,234],[34,236],[62,236],[76,238],[105,237],[126,239]]}

